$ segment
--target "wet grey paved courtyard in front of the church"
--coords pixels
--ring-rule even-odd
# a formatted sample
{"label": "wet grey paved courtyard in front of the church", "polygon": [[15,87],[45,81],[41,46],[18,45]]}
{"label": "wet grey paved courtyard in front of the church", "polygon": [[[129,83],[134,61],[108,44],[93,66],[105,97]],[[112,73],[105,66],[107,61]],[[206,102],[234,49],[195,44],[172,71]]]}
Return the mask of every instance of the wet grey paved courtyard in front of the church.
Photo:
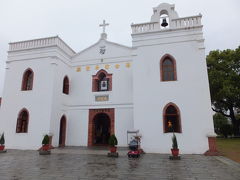
{"label": "wet grey paved courtyard in front of the church", "polygon": [[53,150],[40,156],[37,151],[9,150],[0,154],[0,180],[240,180],[240,164],[223,157],[183,155],[171,161],[166,154],[144,154],[128,159],[109,158],[105,150]]}

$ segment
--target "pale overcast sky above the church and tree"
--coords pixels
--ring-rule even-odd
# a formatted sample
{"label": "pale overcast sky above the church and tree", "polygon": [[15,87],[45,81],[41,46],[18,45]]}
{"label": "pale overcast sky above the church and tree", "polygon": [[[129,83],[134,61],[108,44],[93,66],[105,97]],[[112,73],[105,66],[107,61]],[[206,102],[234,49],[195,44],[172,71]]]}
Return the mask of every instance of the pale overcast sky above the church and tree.
{"label": "pale overcast sky above the church and tree", "polygon": [[108,40],[131,46],[131,23],[175,4],[180,17],[203,15],[206,54],[240,45],[240,0],[0,0],[0,96],[8,43],[59,35],[76,52],[95,43],[106,19]]}

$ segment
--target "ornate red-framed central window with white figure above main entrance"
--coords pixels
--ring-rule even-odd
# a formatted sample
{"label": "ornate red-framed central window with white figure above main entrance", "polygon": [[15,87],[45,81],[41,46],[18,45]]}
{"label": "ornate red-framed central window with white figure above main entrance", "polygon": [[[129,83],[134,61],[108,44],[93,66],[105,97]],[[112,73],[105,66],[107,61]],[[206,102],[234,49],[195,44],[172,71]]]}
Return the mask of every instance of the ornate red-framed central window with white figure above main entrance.
{"label": "ornate red-framed central window with white figure above main entrance", "polygon": [[112,74],[108,74],[105,70],[100,70],[93,75],[92,91],[111,91],[112,90]]}

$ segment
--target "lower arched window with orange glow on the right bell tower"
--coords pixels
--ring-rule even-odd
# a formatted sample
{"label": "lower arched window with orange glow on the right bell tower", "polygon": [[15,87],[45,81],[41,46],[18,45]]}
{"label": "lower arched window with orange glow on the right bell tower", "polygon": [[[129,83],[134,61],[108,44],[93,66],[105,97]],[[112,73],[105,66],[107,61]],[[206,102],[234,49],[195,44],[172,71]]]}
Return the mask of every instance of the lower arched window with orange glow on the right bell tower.
{"label": "lower arched window with orange glow on the right bell tower", "polygon": [[180,111],[173,103],[167,104],[163,110],[163,127],[164,133],[182,132]]}

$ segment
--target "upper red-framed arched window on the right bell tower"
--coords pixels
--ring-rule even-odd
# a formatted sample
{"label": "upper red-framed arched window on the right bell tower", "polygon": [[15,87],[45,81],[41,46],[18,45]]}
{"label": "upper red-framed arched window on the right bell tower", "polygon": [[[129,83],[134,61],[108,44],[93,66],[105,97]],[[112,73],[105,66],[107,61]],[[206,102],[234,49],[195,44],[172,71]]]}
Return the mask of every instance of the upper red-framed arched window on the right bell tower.
{"label": "upper red-framed arched window on the right bell tower", "polygon": [[161,81],[177,80],[176,61],[171,55],[166,54],[162,57],[160,61],[160,73]]}

